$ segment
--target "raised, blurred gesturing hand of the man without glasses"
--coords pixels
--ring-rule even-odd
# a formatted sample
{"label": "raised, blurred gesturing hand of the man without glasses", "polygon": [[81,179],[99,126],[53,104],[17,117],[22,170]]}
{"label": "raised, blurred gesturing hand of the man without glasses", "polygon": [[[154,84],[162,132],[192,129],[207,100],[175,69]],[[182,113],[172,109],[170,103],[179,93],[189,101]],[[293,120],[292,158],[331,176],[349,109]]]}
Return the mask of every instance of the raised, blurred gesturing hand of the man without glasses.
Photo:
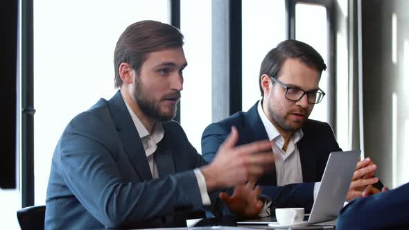
{"label": "raised, blurred gesturing hand of the man without glasses", "polygon": [[243,185],[251,177],[258,178],[274,165],[270,141],[255,141],[235,146],[238,141],[236,127],[220,145],[216,157],[200,168],[206,179],[207,191]]}

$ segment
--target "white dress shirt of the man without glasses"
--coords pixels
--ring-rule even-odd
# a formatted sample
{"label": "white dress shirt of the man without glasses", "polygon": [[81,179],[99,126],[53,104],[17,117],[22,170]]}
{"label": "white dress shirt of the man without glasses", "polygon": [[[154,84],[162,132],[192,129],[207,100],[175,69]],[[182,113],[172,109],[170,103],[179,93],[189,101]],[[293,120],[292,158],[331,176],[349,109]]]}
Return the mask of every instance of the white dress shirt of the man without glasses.
{"label": "white dress shirt of the man without glasses", "polygon": [[[139,120],[137,114],[135,114],[132,111],[132,109],[128,106],[126,102],[125,102],[125,105],[128,108],[128,111],[130,113],[130,116],[132,117],[132,121],[134,122],[135,127],[137,128],[139,137],[141,137],[143,149],[145,150],[146,158],[148,159],[149,168],[150,168],[150,172],[152,173],[152,177],[154,179],[159,178],[159,173],[157,170],[157,165],[155,163],[154,153],[157,150],[157,143],[159,143],[159,141],[161,141],[164,138],[164,127],[162,127],[162,123],[155,122],[155,125],[153,127],[153,132],[152,134],[150,134],[148,130],[146,130],[146,127],[143,126],[141,120]],[[199,168],[195,168],[193,172],[195,173],[195,177],[198,180],[200,195],[202,197],[202,204],[210,205],[211,202],[210,202],[209,194],[207,193],[206,180],[204,179],[202,172],[200,172]]]}

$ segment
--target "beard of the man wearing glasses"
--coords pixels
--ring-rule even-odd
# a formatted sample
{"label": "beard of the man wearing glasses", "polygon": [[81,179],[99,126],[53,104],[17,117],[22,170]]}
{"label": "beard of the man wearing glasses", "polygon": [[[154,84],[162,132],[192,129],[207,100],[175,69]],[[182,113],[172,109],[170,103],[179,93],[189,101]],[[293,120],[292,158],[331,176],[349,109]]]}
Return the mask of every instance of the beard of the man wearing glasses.
{"label": "beard of the man wearing glasses", "polygon": [[285,116],[281,116],[277,114],[270,106],[267,107],[268,117],[272,120],[275,125],[277,125],[281,130],[285,132],[295,132],[302,127],[304,127],[306,120],[309,116],[305,109],[302,109],[300,114],[305,114],[305,118],[302,121],[295,121],[297,125],[292,125],[290,121],[287,120],[288,116],[292,113],[292,111],[288,112]]}

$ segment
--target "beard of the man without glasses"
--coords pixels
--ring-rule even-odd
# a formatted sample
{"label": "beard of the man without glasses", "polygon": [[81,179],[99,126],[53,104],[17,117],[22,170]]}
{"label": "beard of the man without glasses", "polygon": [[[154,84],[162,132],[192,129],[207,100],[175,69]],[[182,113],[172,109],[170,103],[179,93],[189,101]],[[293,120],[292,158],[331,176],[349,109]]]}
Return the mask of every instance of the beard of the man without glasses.
{"label": "beard of the man without glasses", "polygon": [[[163,98],[180,98],[180,92],[165,95]],[[137,81],[134,89],[134,100],[139,106],[139,109],[150,118],[154,118],[156,121],[165,122],[171,121],[176,116],[177,103],[173,106],[170,112],[164,112],[160,108],[160,101],[164,99],[155,100],[150,97],[150,94],[142,85],[142,82]]]}

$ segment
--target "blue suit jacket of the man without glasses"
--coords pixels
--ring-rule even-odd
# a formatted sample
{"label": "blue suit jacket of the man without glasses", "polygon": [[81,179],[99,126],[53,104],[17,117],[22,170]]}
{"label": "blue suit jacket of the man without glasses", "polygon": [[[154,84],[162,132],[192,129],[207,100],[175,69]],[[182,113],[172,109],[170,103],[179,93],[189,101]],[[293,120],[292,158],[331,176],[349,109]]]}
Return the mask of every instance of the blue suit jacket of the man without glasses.
{"label": "blue suit jacket of the man without glasses", "polygon": [[[53,154],[46,229],[138,227],[202,208],[193,169],[205,165],[182,127],[163,123],[153,179],[119,91],[73,118]],[[216,193],[210,194],[212,204]]]}

